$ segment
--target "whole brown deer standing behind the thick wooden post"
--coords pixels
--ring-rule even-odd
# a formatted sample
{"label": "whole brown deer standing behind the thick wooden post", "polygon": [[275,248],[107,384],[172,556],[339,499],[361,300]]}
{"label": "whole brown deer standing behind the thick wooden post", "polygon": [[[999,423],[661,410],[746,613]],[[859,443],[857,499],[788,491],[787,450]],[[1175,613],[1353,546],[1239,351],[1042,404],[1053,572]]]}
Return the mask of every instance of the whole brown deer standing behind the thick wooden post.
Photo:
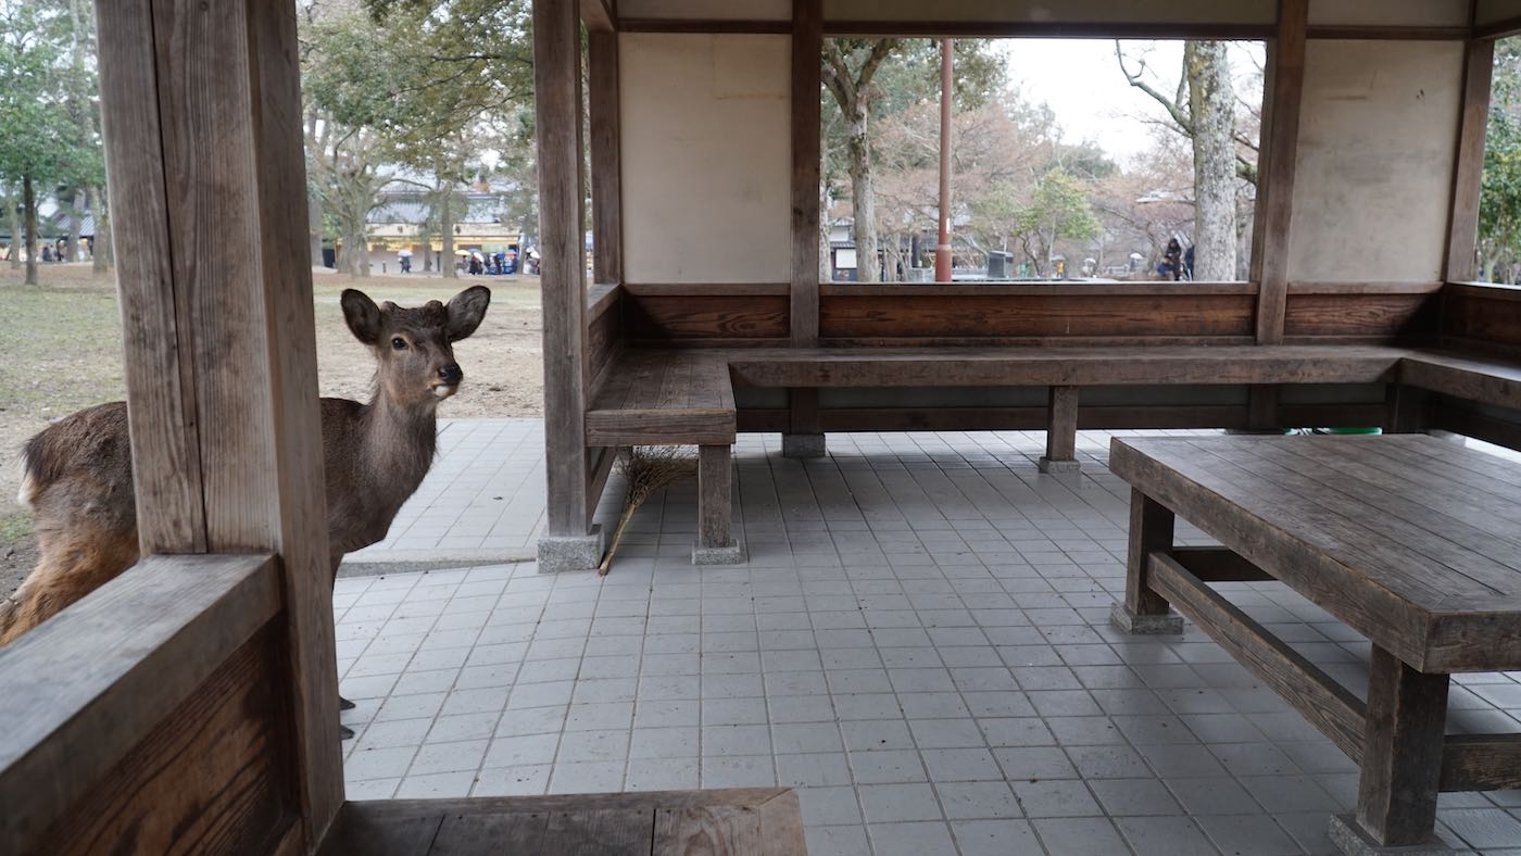
{"label": "whole brown deer standing behind the thick wooden post", "polygon": [[[465,289],[444,306],[376,306],[342,295],[344,319],[376,356],[368,404],[322,398],[322,461],[332,570],[344,553],[385,538],[402,503],[433,462],[438,403],[464,373],[453,342],[475,333],[491,292]],[[138,560],[137,503],[126,404],[73,414],[33,436],[21,455],[21,502],[32,506],[37,569],[0,601],[0,645],[99,588]]]}

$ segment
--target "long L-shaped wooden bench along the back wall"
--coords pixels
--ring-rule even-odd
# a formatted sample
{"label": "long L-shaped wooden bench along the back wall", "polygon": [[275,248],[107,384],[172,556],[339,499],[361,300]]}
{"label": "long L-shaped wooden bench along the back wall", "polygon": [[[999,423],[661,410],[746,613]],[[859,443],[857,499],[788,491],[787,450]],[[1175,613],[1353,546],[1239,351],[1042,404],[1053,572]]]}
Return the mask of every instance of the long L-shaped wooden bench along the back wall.
{"label": "long L-shaped wooden bench along the back wall", "polygon": [[586,414],[587,445],[697,445],[698,540],[692,558],[726,564],[744,555],[732,526],[735,385],[1046,386],[1046,453],[1039,467],[1060,473],[1078,467],[1083,386],[1390,383],[1407,353],[1351,345],[630,348],[596,380]]}

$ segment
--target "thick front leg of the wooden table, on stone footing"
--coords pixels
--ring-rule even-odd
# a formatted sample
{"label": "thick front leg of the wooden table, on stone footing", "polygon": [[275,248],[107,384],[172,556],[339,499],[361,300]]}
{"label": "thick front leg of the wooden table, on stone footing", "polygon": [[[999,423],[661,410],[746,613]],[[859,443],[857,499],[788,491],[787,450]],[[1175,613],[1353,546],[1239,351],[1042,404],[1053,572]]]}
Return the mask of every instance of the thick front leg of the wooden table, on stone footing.
{"label": "thick front leg of the wooden table, on stone footing", "polygon": [[1357,815],[1335,818],[1331,838],[1348,853],[1442,851],[1434,827],[1448,677],[1418,672],[1378,646],[1369,666]]}

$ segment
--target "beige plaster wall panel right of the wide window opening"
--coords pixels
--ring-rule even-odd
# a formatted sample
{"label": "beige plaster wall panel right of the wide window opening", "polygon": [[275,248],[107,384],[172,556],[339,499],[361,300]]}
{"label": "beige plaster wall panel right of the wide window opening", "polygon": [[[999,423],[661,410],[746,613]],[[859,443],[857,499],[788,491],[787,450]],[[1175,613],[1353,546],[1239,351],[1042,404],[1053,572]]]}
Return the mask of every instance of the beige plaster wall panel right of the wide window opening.
{"label": "beige plaster wall panel right of the wide window opening", "polygon": [[1290,280],[1442,277],[1462,85],[1462,43],[1308,43]]}

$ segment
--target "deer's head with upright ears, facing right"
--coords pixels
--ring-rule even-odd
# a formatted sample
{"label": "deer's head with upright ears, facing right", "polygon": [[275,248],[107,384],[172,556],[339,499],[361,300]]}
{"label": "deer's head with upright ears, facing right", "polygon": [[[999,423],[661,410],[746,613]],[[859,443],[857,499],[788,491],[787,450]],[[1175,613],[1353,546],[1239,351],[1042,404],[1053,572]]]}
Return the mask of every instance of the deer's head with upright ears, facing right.
{"label": "deer's head with upright ears, facing right", "polygon": [[481,325],[491,290],[473,286],[447,306],[435,300],[406,309],[391,301],[376,306],[364,292],[345,289],[339,303],[348,330],[376,356],[380,394],[402,407],[432,407],[459,389],[465,373],[453,344]]}

